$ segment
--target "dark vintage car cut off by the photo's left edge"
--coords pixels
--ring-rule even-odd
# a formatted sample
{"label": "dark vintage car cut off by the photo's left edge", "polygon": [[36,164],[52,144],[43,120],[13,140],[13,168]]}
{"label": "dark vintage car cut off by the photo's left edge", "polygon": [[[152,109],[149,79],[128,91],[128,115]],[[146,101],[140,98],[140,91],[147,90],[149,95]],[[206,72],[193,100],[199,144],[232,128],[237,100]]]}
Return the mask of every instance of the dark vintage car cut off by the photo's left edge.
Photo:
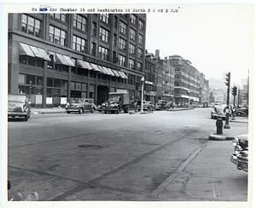
{"label": "dark vintage car cut off by the photo's left edge", "polygon": [[8,117],[24,117],[25,121],[30,118],[31,101],[25,94],[8,95]]}

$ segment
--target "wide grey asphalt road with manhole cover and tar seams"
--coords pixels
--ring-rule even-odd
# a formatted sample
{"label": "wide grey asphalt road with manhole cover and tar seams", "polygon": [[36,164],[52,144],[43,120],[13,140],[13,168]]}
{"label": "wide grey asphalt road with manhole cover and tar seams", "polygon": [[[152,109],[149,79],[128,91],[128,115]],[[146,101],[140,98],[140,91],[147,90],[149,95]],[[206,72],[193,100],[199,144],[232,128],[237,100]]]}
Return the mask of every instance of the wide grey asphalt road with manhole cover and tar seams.
{"label": "wide grey asphalt road with manhole cover and tar seams", "polygon": [[38,191],[40,201],[175,200],[172,195],[160,199],[154,192],[205,146],[216,128],[211,110],[11,119],[11,192],[26,196]]}

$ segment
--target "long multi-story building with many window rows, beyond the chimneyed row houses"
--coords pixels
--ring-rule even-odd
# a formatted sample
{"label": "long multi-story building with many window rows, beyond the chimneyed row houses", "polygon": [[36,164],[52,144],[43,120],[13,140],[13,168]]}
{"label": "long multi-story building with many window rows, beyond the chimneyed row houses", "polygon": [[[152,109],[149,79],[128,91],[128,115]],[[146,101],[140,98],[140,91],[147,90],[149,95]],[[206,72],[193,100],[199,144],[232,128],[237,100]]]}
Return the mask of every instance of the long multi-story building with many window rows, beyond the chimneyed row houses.
{"label": "long multi-story building with many window rows, beyond the chimneyed row houses", "polygon": [[199,102],[200,72],[180,55],[169,56],[175,67],[174,99],[177,104]]}

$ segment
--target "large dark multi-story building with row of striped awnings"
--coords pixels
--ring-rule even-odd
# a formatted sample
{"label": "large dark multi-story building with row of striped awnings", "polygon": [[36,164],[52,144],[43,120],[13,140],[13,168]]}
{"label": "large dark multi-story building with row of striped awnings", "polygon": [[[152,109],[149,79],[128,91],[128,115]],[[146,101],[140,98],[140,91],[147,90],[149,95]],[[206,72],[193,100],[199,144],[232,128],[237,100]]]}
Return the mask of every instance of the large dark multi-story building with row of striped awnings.
{"label": "large dark multi-story building with row of striped awnings", "polygon": [[9,14],[8,91],[30,94],[35,107],[98,105],[120,90],[133,99],[145,34],[146,14]]}

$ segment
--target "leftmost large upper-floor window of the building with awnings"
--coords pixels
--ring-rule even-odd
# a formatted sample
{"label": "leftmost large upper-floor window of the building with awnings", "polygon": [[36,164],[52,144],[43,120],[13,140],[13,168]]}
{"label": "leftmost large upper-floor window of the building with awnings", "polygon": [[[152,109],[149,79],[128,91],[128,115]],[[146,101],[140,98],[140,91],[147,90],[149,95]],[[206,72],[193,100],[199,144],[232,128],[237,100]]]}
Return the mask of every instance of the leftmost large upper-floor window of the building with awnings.
{"label": "leftmost large upper-floor window of the building with awnings", "polygon": [[39,38],[41,37],[41,21],[26,14],[22,14],[21,31]]}

